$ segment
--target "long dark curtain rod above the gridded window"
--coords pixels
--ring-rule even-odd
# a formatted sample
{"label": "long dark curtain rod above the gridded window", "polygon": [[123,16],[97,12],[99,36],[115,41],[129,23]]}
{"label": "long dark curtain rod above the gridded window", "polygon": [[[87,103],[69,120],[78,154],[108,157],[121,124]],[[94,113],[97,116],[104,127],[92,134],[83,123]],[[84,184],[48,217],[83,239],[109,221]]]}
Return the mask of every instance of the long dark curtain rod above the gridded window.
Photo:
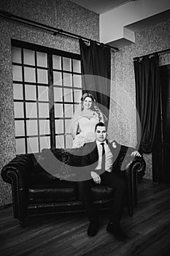
{"label": "long dark curtain rod above the gridded window", "polygon": [[17,22],[24,23],[28,26],[34,26],[35,28],[45,29],[46,31],[53,32],[53,35],[61,34],[61,35],[66,36],[66,37],[71,37],[71,38],[74,38],[74,39],[83,39],[85,42],[95,42],[98,45],[104,45],[107,48],[112,48],[114,50],[119,50],[118,48],[115,48],[111,45],[104,44],[103,42],[97,42],[97,41],[89,39],[87,37],[82,37],[80,35],[71,33],[69,31],[64,31],[63,29],[56,29],[52,26],[47,26],[45,24],[38,23],[34,20],[28,20],[26,18],[22,18],[22,17],[19,17],[17,15],[13,15],[10,12],[4,12],[4,11],[0,10],[0,16],[3,17],[3,18],[7,18],[9,20],[15,20]]}

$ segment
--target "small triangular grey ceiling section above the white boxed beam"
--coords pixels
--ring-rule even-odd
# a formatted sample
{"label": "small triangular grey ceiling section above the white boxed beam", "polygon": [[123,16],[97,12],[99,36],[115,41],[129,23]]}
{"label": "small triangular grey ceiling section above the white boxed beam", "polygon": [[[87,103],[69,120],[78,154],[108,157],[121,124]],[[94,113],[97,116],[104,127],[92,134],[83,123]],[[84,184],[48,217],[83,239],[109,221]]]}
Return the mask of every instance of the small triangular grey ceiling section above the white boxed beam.
{"label": "small triangular grey ceiling section above the white boxed beam", "polygon": [[79,4],[82,7],[85,7],[88,10],[96,12],[98,14],[107,12],[111,9],[119,7],[122,4],[127,3],[128,1],[135,0],[70,0],[75,4]]}

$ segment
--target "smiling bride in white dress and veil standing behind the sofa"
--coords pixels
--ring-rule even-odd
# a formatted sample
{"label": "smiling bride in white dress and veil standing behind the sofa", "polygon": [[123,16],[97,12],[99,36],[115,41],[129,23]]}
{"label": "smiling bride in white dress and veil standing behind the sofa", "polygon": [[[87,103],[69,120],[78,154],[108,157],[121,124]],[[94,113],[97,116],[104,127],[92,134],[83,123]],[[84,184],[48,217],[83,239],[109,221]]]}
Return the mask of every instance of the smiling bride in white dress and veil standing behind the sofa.
{"label": "smiling bride in white dress and veil standing behind the sofa", "polygon": [[96,124],[99,121],[104,122],[104,115],[95,102],[92,94],[85,93],[82,95],[80,105],[77,105],[71,124],[73,148],[79,148],[95,140]]}

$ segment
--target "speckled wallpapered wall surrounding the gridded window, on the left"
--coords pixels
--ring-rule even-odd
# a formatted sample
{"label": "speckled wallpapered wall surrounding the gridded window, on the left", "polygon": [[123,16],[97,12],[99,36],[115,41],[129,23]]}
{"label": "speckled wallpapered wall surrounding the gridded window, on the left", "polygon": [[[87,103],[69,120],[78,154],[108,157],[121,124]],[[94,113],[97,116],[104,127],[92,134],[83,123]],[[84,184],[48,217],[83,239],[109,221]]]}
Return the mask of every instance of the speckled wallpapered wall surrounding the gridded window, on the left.
{"label": "speckled wallpapered wall surrounding the gridded window, on the left", "polygon": [[[39,23],[71,31],[82,37],[99,39],[99,17],[96,13],[65,0],[0,0],[1,10]],[[31,42],[58,50],[80,53],[79,43],[69,37],[53,34],[0,19],[0,170],[15,157],[15,127],[12,91],[11,39]],[[0,206],[12,202],[11,187],[0,178]]]}

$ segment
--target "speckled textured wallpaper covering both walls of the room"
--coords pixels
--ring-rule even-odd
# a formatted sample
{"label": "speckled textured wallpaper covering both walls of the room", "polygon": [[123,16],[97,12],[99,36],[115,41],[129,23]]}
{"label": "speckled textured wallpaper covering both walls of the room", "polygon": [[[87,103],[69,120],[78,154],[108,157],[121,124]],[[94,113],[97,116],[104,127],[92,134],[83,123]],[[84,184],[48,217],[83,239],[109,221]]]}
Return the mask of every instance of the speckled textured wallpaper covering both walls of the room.
{"label": "speckled textured wallpaper covering both walls of the room", "polygon": [[[94,12],[66,0],[0,0],[1,10],[49,26],[71,31],[94,40],[99,38],[99,19]],[[133,58],[170,47],[170,20],[136,33],[136,43],[112,53],[112,88],[109,137],[125,145],[136,146],[136,108]],[[11,39],[31,42],[58,50],[80,53],[78,41],[50,32],[0,20],[0,170],[15,157]],[[169,64],[170,55],[161,55],[160,64]],[[111,129],[112,128],[112,129]],[[152,177],[152,156],[146,177]],[[0,206],[12,202],[11,188],[0,178]]]}

